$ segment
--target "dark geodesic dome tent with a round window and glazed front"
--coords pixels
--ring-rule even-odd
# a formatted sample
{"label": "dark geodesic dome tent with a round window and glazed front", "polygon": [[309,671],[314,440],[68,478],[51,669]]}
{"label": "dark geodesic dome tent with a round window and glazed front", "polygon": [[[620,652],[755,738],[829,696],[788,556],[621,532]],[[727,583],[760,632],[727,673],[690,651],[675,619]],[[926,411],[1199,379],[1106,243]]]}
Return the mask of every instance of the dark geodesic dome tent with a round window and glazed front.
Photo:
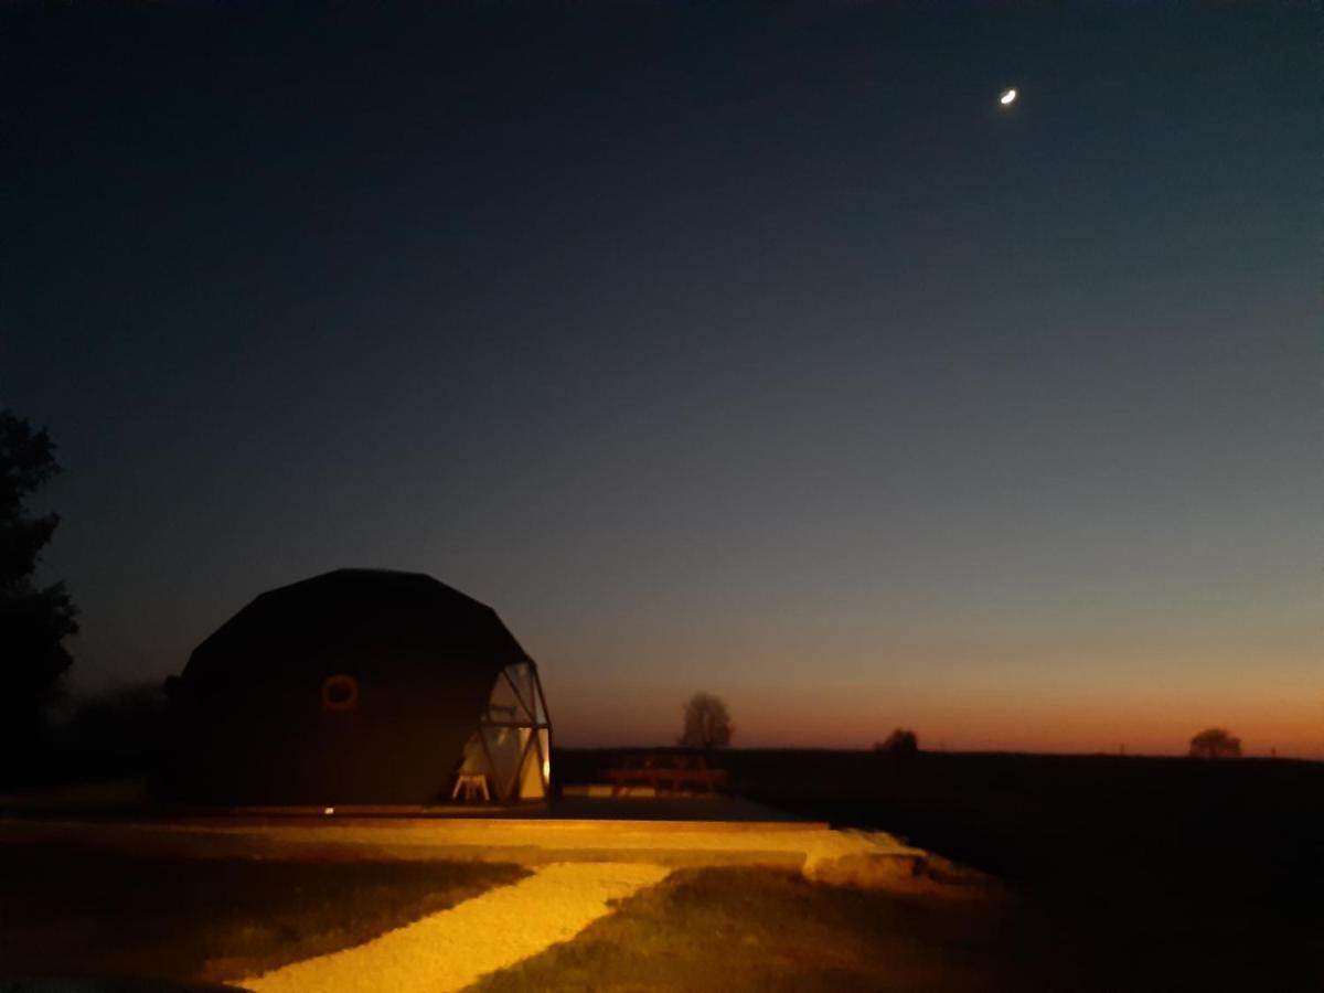
{"label": "dark geodesic dome tent with a round window and glazed front", "polygon": [[538,666],[422,573],[340,569],[261,594],[167,682],[166,794],[203,805],[426,805],[459,776],[547,796]]}

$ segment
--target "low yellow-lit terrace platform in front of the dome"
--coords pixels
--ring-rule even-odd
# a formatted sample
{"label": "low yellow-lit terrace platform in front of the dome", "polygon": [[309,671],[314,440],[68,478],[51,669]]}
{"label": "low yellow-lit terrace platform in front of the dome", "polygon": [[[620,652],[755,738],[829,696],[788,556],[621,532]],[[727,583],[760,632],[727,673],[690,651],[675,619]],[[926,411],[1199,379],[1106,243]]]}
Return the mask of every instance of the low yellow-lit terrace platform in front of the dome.
{"label": "low yellow-lit terrace platform in front of the dome", "polygon": [[831,830],[736,797],[559,797],[519,808],[263,808],[162,812],[140,782],[0,797],[0,845],[195,858],[751,865],[810,876],[918,875],[932,857],[882,831]]}

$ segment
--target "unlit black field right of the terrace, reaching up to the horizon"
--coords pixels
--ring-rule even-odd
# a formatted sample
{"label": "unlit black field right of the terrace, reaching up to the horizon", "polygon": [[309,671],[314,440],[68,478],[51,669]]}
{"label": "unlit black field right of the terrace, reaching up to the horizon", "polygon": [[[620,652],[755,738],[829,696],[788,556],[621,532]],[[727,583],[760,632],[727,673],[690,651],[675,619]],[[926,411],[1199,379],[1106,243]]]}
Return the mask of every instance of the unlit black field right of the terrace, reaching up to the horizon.
{"label": "unlit black field right of the terrace, reaching up to the horizon", "polygon": [[[618,755],[565,752],[559,775],[592,781]],[[1324,990],[1324,764],[808,751],[719,764],[741,796],[1006,880],[1021,910],[998,941],[1063,968],[1063,988]],[[992,925],[968,927],[973,949]]]}

